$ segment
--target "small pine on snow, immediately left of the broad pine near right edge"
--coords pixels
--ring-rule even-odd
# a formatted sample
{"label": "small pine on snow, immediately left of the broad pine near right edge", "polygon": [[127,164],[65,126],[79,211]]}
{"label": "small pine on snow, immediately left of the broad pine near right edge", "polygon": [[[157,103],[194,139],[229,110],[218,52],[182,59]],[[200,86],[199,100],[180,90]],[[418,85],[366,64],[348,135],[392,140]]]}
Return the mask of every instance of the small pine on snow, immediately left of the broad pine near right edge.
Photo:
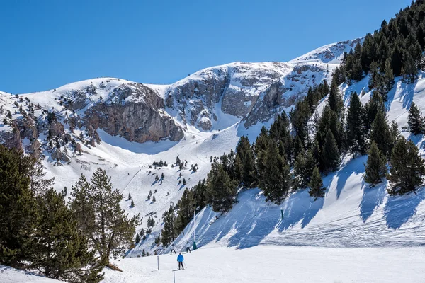
{"label": "small pine on snow, immediately left of the broad pine near right edge", "polygon": [[370,144],[368,150],[368,161],[365,164],[365,182],[374,186],[382,182],[387,173],[387,158],[382,154],[382,151],[378,149],[375,141]]}

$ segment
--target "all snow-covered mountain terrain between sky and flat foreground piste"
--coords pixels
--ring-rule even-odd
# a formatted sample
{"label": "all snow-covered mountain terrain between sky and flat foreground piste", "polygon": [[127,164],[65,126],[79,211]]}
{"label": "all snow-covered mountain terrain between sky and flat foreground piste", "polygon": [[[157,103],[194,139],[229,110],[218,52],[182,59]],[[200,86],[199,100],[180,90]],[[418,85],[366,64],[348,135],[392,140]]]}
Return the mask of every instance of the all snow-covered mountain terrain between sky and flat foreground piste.
{"label": "all snow-covered mountain terrain between sky and flat foreground piste", "polygon": [[[42,156],[57,190],[69,191],[81,173],[90,177],[96,168],[106,169],[114,186],[132,195],[135,207],[129,200],[123,200],[123,207],[130,215],[145,216],[137,230],[146,228],[149,213],[157,222],[147,240],[128,256],[140,255],[143,249],[152,253],[162,214],[186,187],[206,177],[210,156],[234,149],[242,134],[254,140],[263,125],[289,111],[310,86],[329,80],[344,51],[360,41],[326,45],[285,63],[211,67],[167,86],[98,78],[39,93],[1,92],[0,141]],[[341,86],[346,102],[351,91],[362,90],[365,103],[370,96],[367,78]],[[388,94],[390,121],[405,126],[412,101],[425,111],[424,96],[424,74],[410,85],[397,79]],[[421,137],[412,138],[423,150]],[[188,161],[181,171],[171,166],[176,156]],[[152,166],[161,159],[169,166]],[[241,192],[236,207],[220,219],[205,208],[176,244],[182,247],[194,232],[200,246],[424,244],[417,236],[424,232],[423,194],[388,198],[383,186],[366,190],[364,162],[364,157],[347,156],[341,169],[324,179],[327,196],[317,202],[300,191],[278,207],[266,204],[258,190]],[[196,172],[189,169],[194,164],[199,167]],[[156,182],[155,175],[162,173],[164,180]],[[187,185],[181,184],[183,179]],[[149,191],[156,202],[147,200]]]}

